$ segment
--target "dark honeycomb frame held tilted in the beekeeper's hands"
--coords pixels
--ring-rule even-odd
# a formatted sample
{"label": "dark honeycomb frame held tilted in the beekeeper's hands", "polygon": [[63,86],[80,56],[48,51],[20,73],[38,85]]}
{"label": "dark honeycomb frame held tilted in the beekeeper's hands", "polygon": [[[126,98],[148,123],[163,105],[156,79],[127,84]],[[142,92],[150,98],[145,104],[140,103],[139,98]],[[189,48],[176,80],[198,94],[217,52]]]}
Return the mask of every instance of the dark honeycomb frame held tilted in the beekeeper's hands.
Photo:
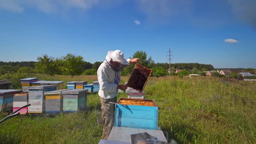
{"label": "dark honeycomb frame held tilted in the beekeeper's hands", "polygon": [[152,73],[151,69],[148,69],[136,63],[131,73],[131,77],[129,78],[126,86],[136,89],[139,92],[143,92],[143,89],[151,73]]}

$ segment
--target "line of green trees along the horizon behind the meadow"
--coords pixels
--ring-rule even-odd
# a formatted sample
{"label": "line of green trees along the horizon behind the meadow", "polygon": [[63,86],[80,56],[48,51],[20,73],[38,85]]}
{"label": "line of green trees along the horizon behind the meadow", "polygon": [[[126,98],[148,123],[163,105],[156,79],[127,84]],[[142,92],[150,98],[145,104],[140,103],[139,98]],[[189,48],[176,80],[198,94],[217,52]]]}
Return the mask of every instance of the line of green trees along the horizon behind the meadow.
{"label": "line of green trees along the horizon behind the meadow", "polygon": [[[138,62],[149,69],[152,69],[152,76],[168,75],[168,63],[155,63],[151,56],[145,51],[137,51],[129,57],[130,59],[139,58]],[[0,74],[7,72],[17,72],[21,67],[22,71],[43,73],[47,75],[96,75],[97,69],[102,62],[90,63],[83,60],[82,56],[75,56],[71,53],[60,58],[48,56],[47,54],[39,56],[37,62],[0,62]],[[129,64],[121,72],[121,75],[131,74],[135,64]],[[200,63],[172,63],[171,70],[184,69],[187,72],[213,70],[213,65]]]}

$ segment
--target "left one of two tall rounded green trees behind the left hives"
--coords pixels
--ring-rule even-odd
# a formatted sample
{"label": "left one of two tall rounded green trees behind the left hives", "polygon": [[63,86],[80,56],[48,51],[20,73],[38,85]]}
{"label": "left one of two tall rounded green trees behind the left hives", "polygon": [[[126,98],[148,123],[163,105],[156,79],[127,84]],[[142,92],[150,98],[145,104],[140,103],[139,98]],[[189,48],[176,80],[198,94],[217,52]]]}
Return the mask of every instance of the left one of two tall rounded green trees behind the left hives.
{"label": "left one of two tall rounded green trees behind the left hives", "polygon": [[43,73],[46,75],[54,75],[59,70],[59,65],[57,65],[55,59],[53,57],[47,56],[47,54],[42,57],[37,58],[38,62],[36,62],[35,69],[36,72]]}

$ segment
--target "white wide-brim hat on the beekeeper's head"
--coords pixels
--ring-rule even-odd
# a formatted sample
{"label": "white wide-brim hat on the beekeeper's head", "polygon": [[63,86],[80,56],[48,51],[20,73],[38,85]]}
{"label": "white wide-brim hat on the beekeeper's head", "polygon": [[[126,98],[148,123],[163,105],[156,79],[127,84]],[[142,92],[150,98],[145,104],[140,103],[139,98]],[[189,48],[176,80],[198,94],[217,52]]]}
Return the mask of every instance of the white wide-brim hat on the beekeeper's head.
{"label": "white wide-brim hat on the beekeeper's head", "polygon": [[123,52],[120,50],[108,51],[108,55],[106,56],[109,60],[112,59],[113,62],[118,62],[123,65],[128,65],[127,60],[124,58]]}

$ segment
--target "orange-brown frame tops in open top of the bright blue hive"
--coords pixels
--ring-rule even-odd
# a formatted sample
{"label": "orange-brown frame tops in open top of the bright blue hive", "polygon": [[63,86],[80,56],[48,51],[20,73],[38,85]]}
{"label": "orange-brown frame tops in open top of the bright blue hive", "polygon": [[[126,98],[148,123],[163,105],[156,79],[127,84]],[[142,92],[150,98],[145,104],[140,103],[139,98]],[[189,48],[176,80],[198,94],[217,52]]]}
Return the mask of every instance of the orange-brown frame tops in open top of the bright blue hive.
{"label": "orange-brown frame tops in open top of the bright blue hive", "polygon": [[158,107],[158,105],[152,99],[120,98],[117,104]]}

